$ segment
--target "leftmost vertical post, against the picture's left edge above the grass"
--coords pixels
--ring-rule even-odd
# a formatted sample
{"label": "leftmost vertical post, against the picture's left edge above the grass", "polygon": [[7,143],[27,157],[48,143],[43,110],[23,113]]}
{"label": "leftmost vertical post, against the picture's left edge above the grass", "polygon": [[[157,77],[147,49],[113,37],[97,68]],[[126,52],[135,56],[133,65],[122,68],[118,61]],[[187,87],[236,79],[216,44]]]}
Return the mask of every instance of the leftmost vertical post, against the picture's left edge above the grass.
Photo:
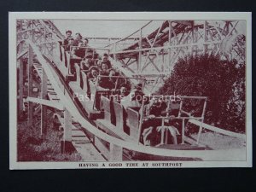
{"label": "leftmost vertical post, against the picture's left edge above the grass", "polygon": [[19,59],[19,111],[18,114],[22,115],[23,113],[23,61],[22,58]]}

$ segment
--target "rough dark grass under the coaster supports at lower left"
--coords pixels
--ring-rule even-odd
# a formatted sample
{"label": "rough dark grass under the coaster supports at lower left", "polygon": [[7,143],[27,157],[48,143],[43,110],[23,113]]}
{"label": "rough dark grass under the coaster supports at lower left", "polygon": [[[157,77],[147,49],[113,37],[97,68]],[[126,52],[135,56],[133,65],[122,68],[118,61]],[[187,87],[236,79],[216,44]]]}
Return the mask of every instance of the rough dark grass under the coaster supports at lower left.
{"label": "rough dark grass under the coaster supports at lower left", "polygon": [[[37,120],[40,122],[40,119]],[[54,129],[52,119],[48,119],[47,134],[40,137],[40,124],[32,128],[27,122],[18,124],[18,161],[79,161],[82,160],[76,151],[71,154],[61,154],[61,139],[63,132]]]}

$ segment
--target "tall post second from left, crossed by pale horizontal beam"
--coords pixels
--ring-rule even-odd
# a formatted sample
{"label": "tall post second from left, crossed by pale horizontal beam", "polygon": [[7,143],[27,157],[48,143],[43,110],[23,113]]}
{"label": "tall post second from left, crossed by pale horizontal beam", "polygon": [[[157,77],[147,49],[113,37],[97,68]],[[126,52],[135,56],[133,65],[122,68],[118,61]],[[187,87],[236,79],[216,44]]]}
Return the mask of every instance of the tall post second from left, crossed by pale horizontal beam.
{"label": "tall post second from left, crossed by pale horizontal beam", "polygon": [[[27,62],[27,77],[28,77],[28,89],[27,96],[32,96],[32,66],[33,66],[33,51],[31,45],[28,45],[28,62]],[[27,125],[32,126],[33,122],[33,102],[28,102],[27,109]]]}

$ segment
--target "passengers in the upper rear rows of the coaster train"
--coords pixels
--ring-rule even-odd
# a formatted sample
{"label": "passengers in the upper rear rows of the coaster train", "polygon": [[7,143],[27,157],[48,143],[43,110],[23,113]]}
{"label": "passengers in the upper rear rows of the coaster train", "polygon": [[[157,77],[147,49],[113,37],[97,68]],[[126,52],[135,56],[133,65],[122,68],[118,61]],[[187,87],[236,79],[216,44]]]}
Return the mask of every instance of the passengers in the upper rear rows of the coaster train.
{"label": "passengers in the upper rear rows of the coaster train", "polygon": [[96,84],[98,75],[101,75],[102,78],[99,79],[98,86],[102,89],[119,90],[121,86],[129,88],[130,82],[128,80],[115,78],[120,74],[113,69],[107,53],[102,56],[98,55],[96,50],[88,45],[89,40],[83,38],[79,32],[75,34],[75,38],[73,38],[70,30],[66,32],[66,35],[62,46],[70,55],[71,73],[76,75],[74,66],[78,64],[80,69],[86,73],[90,84]]}

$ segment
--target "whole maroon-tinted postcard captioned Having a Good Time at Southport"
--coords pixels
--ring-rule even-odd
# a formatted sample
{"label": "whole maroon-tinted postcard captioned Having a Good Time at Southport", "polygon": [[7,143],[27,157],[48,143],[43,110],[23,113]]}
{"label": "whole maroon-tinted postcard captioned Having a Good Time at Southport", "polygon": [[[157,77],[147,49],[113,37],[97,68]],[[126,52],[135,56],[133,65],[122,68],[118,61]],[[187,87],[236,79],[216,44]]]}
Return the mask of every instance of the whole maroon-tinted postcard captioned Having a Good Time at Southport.
{"label": "whole maroon-tinted postcard captioned Having a Good Time at Southport", "polygon": [[252,166],[251,13],[9,13],[10,169]]}

